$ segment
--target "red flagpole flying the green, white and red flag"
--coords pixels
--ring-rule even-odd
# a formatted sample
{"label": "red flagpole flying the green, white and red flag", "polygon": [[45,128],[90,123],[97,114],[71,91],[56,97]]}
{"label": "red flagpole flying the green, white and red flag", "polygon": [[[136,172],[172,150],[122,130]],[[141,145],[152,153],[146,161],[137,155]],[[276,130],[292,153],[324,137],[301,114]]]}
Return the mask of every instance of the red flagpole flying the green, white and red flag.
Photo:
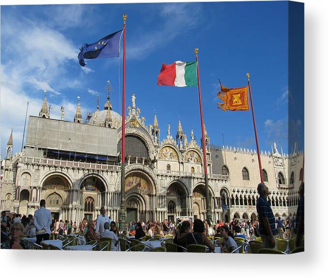
{"label": "red flagpole flying the green, white and red flag", "polygon": [[198,68],[198,48],[194,49],[196,54],[197,63],[197,78],[198,78],[198,96],[199,96],[199,110],[200,110],[200,122],[202,126],[202,144],[203,144],[203,156],[204,156],[204,176],[205,176],[205,191],[206,191],[206,218],[211,221],[212,213],[210,209],[209,200],[209,179],[207,176],[207,161],[206,161],[206,145],[205,145],[205,132],[204,132],[204,120],[203,120],[203,106],[202,106],[202,94],[200,92],[200,80],[199,80],[199,68]]}

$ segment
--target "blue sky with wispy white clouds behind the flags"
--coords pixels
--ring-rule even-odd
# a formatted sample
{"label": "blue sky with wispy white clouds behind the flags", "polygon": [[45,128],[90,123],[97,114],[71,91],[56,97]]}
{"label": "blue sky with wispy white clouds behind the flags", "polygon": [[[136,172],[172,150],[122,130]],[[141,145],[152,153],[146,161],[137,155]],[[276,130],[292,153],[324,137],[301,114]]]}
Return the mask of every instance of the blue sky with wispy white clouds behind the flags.
{"label": "blue sky with wispy white clouds behind the flags", "polygon": [[[60,118],[73,120],[77,97],[82,113],[101,107],[110,79],[113,110],[121,113],[122,56],[77,60],[79,47],[94,43],[123,27],[127,20],[126,107],[131,95],[146,124],[152,124],[156,110],[161,140],[167,123],[175,135],[178,118],[188,139],[191,129],[200,143],[201,129],[197,88],[157,85],[162,63],[194,61],[199,48],[199,70],[204,121],[213,144],[255,149],[250,111],[217,109],[218,78],[226,87],[247,85],[251,74],[260,149],[269,151],[273,142],[288,150],[288,9],[287,2],[211,2],[1,6],[1,155],[11,128],[14,152],[20,150],[26,102],[29,115],[38,115],[46,89]],[[294,95],[294,98],[296,96]],[[301,113],[302,114],[302,113]],[[301,136],[303,118],[293,126]],[[291,130],[291,129],[290,129]],[[294,136],[295,138],[295,136]]]}

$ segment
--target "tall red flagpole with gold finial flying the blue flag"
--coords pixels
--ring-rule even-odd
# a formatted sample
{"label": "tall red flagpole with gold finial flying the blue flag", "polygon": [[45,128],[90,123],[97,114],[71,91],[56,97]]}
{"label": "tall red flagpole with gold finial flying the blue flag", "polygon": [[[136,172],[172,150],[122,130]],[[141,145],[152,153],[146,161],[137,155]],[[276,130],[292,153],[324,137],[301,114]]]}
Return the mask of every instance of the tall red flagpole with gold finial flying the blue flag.
{"label": "tall red flagpole with gold finial flying the blue flag", "polygon": [[121,194],[120,194],[120,209],[119,209],[119,231],[126,231],[126,206],[125,206],[125,34],[127,15],[123,15],[124,29],[123,29],[123,97],[122,97],[122,147],[121,147]]}

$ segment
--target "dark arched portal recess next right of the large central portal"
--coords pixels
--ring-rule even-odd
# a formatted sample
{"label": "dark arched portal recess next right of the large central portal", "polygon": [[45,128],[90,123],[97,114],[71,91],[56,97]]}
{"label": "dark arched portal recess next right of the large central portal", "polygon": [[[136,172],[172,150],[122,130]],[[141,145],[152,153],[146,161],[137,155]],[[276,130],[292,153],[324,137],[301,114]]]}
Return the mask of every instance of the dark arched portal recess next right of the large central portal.
{"label": "dark arched portal recess next right of the large central portal", "polygon": [[187,192],[179,182],[173,182],[166,190],[166,203],[167,219],[175,220],[178,216],[188,216]]}

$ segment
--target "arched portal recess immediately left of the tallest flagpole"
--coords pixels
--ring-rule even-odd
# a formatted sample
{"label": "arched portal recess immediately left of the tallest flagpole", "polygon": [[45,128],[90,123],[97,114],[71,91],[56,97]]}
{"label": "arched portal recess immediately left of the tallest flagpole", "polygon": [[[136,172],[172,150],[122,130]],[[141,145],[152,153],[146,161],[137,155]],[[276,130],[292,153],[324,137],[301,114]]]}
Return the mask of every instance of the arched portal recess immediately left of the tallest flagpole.
{"label": "arched portal recess immediately left of the tallest flagpole", "polygon": [[[100,208],[106,205],[106,187],[104,182],[98,176],[87,176],[82,181],[80,189],[83,194],[83,204],[81,205],[84,206],[84,218],[95,219]],[[85,210],[86,201],[88,201],[90,205],[87,205],[87,210]],[[91,203],[93,204],[92,210]]]}

